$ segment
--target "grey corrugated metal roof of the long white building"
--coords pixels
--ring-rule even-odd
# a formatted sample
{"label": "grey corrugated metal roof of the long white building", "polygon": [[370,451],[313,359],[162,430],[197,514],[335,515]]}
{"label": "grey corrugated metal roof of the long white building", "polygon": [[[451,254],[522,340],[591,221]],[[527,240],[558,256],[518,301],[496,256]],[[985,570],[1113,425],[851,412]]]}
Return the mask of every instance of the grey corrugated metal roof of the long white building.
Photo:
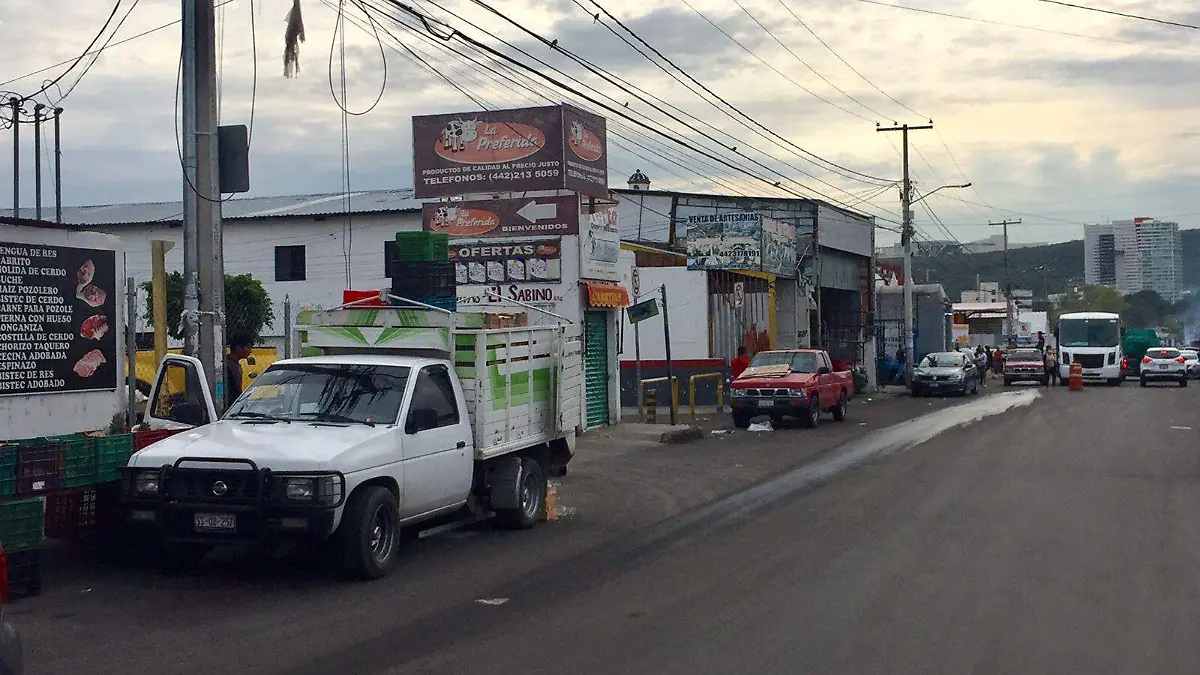
{"label": "grey corrugated metal roof of the long white building", "polygon": [[[346,210],[344,195],[288,195],[282,197],[247,197],[221,204],[223,220],[336,215]],[[352,192],[349,210],[355,214],[418,211],[421,201],[409,190],[367,190]],[[34,209],[20,210],[22,217],[34,217]],[[43,217],[54,217],[54,205],[42,207]],[[62,221],[71,225],[143,225],[148,222],[178,222],[184,217],[182,202],[146,202],[140,204],[101,204],[64,207]]]}

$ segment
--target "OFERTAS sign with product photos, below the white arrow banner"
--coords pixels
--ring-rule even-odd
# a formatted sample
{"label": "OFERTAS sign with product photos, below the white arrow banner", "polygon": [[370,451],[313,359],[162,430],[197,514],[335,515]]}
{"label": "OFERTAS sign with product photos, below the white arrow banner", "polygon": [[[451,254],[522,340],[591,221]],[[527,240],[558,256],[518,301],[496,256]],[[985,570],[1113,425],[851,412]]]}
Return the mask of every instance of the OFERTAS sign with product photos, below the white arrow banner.
{"label": "OFERTAS sign with product photos, below the white arrow banner", "polygon": [[504,281],[559,281],[563,279],[560,239],[512,244],[460,243],[450,245],[458,283]]}

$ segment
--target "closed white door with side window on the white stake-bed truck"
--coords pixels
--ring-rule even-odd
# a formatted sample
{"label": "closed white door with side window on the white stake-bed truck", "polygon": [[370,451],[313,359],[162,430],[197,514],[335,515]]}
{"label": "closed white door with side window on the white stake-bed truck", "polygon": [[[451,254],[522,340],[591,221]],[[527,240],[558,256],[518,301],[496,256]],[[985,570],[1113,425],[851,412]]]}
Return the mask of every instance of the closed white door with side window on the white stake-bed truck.
{"label": "closed white door with side window on the white stake-bed truck", "polygon": [[404,418],[402,518],[461,503],[470,492],[475,447],[462,400],[445,365],[416,374]]}

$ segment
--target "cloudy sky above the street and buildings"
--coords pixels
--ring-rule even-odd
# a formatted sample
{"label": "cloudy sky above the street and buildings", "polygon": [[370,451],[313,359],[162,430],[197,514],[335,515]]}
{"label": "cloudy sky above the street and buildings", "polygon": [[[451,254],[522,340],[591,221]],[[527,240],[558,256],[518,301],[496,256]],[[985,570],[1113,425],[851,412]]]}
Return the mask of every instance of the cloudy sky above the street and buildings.
{"label": "cloudy sky above the street and buildings", "polygon": [[[386,7],[385,0],[365,2]],[[1081,2],[1200,23],[1193,0]],[[253,5],[229,0],[217,10],[222,123],[247,124],[254,112],[252,195],[336,192],[343,183],[342,110],[330,90],[336,0],[301,4],[307,42],[294,79],[282,77],[283,19],[290,0],[253,0]],[[940,192],[918,207],[916,222],[924,238],[979,239],[996,231],[986,226],[989,221],[1003,217],[1022,219],[1012,237],[1025,241],[1080,238],[1079,223],[1105,219],[1157,216],[1183,227],[1200,225],[1198,30],[1039,0],[487,4],[635,85],[646,92],[641,96],[653,96],[652,107],[472,0],[412,0],[412,6],[463,35],[570,82],[533,60],[544,59],[586,85],[572,86],[662,131],[658,135],[605,113],[613,186],[624,186],[640,168],[655,187],[820,195],[854,204],[888,225],[899,220],[899,192],[886,181],[900,175],[900,137],[877,133],[876,123],[932,119],[935,131],[912,133],[918,192],[965,180],[974,187]],[[180,198],[173,120],[179,25],[116,44],[178,20],[179,5],[179,0],[124,0],[116,20],[133,6],[128,18],[61,102],[67,204]],[[518,76],[491,64],[480,67],[472,60],[490,59],[463,42],[422,37],[383,14],[372,14],[385,29],[377,41],[366,14],[353,5],[347,2],[344,34],[347,108],[354,113],[371,108],[383,90],[370,112],[349,117],[355,190],[412,185],[413,114],[470,110],[480,103],[544,104],[547,98],[582,102],[528,71],[514,67],[523,73]],[[55,64],[84,50],[112,7],[101,1],[5,0],[0,90],[28,95],[41,89],[46,78],[66,67]],[[634,42],[614,22],[604,14],[594,19],[599,7],[712,94],[690,82],[696,91],[689,90],[665,72],[688,82],[679,71],[666,64],[660,68],[636,53],[610,31]],[[409,17],[404,22],[415,23]],[[335,48],[332,60],[335,89],[341,88],[340,52]],[[89,62],[85,59],[38,100],[56,102]],[[32,203],[28,130],[22,130],[25,205]],[[5,142],[8,133],[4,132]],[[742,168],[677,145],[676,138]],[[854,173],[814,162],[812,156]],[[11,185],[11,154],[0,154],[0,185]],[[4,192],[0,204],[11,205],[11,193]],[[880,240],[894,237],[883,231]]]}

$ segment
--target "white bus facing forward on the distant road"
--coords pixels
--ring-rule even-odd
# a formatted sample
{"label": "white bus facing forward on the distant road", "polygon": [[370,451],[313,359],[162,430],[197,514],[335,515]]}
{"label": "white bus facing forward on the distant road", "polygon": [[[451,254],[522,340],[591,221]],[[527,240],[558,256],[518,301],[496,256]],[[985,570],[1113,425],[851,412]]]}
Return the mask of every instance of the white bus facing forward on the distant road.
{"label": "white bus facing forward on the distant road", "polygon": [[1084,380],[1108,382],[1120,387],[1121,315],[1110,312],[1073,312],[1058,317],[1058,371],[1063,380],[1070,364],[1084,366]]}

